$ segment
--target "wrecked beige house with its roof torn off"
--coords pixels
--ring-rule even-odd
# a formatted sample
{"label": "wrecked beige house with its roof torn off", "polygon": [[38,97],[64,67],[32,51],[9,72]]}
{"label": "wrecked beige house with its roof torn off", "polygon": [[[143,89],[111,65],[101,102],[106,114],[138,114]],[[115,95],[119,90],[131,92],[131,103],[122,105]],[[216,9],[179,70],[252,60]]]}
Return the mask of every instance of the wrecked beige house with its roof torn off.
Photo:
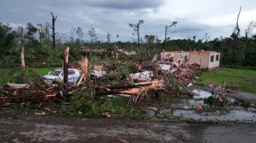
{"label": "wrecked beige house with its roof torn off", "polygon": [[175,62],[174,66],[196,63],[201,69],[213,69],[220,66],[220,52],[205,50],[161,52],[155,55],[153,63],[158,61],[162,61],[161,64]]}

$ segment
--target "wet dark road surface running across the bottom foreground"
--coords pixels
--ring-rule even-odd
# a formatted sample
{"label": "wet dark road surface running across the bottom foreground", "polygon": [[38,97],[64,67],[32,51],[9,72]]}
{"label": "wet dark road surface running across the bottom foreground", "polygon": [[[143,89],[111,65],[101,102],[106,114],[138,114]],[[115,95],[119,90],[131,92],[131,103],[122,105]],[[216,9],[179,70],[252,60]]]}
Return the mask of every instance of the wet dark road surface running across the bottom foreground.
{"label": "wet dark road surface running across the bottom foreground", "polygon": [[0,142],[255,142],[256,125],[208,125],[146,120],[35,115],[1,110]]}

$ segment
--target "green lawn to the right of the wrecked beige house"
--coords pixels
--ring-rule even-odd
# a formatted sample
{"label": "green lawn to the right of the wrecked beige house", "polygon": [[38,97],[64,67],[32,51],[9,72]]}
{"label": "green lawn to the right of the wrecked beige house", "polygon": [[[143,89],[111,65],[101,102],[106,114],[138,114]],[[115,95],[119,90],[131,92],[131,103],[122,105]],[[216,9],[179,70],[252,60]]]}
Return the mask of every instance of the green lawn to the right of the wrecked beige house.
{"label": "green lawn to the right of the wrecked beige house", "polygon": [[238,85],[240,91],[256,93],[256,70],[220,68],[219,71],[203,72],[198,84],[220,85],[224,82],[230,85]]}

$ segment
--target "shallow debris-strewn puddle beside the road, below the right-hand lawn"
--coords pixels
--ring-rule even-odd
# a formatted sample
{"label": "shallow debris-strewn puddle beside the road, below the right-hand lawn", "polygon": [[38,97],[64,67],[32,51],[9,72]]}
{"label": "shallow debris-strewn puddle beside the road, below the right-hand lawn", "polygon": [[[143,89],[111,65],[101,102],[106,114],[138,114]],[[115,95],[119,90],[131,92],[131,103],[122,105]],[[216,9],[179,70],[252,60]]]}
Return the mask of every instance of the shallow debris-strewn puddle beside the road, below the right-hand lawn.
{"label": "shallow debris-strewn puddle beside the road, below the right-hand lawn", "polygon": [[[256,107],[252,105],[252,108],[233,107],[232,110],[225,111],[225,113],[197,113],[195,108],[197,105],[207,107],[208,105],[203,102],[203,99],[208,98],[211,95],[210,92],[194,89],[193,93],[199,96],[193,98],[183,98],[177,103],[171,103],[171,108],[163,108],[156,112],[154,110],[146,110],[149,117],[169,117],[169,118],[186,118],[188,120],[203,120],[203,121],[240,121],[240,122],[256,122]],[[233,98],[229,98],[230,102],[235,101]],[[209,106],[208,106],[209,107]]]}

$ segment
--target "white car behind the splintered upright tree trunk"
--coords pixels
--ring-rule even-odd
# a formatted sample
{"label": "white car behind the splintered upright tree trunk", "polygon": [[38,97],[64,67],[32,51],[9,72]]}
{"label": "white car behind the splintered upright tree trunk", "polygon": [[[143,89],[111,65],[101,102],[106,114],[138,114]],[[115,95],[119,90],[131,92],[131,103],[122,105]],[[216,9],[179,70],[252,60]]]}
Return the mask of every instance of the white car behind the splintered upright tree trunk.
{"label": "white car behind the splintered upright tree trunk", "polygon": [[[50,74],[46,74],[42,76],[43,81],[46,84],[53,84],[55,81],[63,82],[63,69],[55,69],[50,72]],[[68,84],[75,84],[81,76],[81,72],[78,69],[68,69]]]}

